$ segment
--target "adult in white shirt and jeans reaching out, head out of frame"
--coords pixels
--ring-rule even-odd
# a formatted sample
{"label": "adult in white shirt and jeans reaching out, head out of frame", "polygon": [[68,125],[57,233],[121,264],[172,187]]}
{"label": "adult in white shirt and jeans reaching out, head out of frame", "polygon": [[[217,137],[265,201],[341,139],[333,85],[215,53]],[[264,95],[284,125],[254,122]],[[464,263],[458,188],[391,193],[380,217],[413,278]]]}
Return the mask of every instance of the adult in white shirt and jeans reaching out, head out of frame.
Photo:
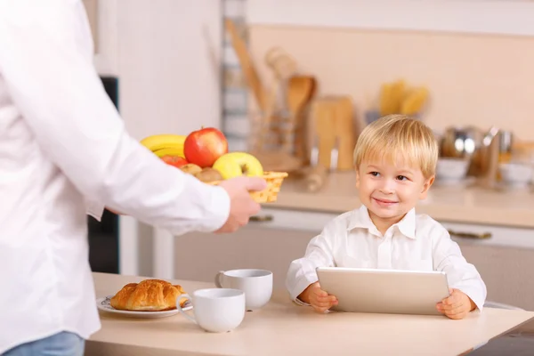
{"label": "adult in white shirt and jeans reaching out, head out of frame", "polygon": [[100,328],[86,206],[175,235],[228,232],[260,209],[248,190],[264,188],[208,186],[125,132],[80,0],[0,0],[0,354],[81,355]]}

